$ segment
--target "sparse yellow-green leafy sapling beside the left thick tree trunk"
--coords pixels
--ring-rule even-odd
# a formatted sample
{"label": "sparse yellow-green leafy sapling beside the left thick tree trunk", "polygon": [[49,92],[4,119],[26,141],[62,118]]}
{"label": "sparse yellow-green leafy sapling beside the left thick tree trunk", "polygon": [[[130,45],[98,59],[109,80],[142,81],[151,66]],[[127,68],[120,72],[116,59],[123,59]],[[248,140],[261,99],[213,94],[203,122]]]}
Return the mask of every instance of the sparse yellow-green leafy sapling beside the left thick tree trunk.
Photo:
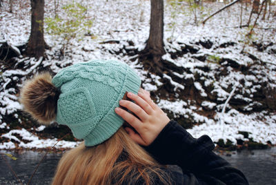
{"label": "sparse yellow-green leafy sapling beside the left thick tree trunk", "polygon": [[61,51],[64,53],[72,39],[78,38],[81,40],[85,35],[91,35],[90,28],[93,22],[88,19],[88,8],[82,6],[81,3],[72,1],[72,3],[63,6],[62,10],[65,12],[63,18],[58,16],[55,18],[47,17],[45,24],[48,34],[62,38]]}

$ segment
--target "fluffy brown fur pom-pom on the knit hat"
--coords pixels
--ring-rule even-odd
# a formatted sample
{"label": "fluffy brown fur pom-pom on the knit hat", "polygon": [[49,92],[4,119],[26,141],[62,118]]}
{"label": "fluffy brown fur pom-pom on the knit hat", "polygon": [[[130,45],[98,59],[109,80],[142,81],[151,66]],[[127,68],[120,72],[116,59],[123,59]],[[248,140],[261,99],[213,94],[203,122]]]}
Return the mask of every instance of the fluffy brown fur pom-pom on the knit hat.
{"label": "fluffy brown fur pom-pom on the knit hat", "polygon": [[50,73],[45,72],[26,81],[21,88],[20,102],[24,110],[42,124],[50,124],[57,115],[60,91],[52,84]]}

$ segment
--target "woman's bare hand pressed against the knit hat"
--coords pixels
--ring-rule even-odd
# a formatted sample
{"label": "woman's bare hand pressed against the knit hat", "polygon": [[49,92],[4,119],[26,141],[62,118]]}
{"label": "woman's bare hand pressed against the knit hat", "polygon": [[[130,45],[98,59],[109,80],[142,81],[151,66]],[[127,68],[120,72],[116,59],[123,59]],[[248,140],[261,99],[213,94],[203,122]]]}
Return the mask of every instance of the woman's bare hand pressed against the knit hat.
{"label": "woman's bare hand pressed against the knit hat", "polygon": [[137,144],[149,146],[166,124],[168,124],[170,119],[150,99],[150,93],[146,90],[140,88],[138,95],[128,93],[127,96],[129,99],[135,101],[136,104],[124,99],[121,99],[119,104],[137,115],[138,118],[119,107],[115,108],[115,112],[137,131],[136,133],[132,128],[126,127],[125,129],[130,138],[137,142]]}

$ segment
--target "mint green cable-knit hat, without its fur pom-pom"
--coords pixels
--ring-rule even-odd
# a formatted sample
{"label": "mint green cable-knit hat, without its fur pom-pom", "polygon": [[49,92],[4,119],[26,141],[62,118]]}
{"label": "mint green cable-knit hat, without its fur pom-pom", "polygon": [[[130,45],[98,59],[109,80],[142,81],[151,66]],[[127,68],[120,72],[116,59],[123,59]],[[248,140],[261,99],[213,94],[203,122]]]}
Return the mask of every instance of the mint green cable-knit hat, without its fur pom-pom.
{"label": "mint green cable-knit hat, without its fur pom-pom", "polygon": [[61,90],[57,123],[67,125],[86,146],[95,146],[122,126],[115,108],[126,91],[137,94],[141,80],[126,64],[95,60],[64,68],[52,83]]}

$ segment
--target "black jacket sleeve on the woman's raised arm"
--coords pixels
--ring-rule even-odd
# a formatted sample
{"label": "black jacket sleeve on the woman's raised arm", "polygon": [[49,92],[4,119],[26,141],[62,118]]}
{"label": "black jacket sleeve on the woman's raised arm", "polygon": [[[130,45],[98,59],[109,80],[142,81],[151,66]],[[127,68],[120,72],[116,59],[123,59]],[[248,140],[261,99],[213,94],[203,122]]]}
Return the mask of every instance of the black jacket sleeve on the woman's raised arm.
{"label": "black jacket sleeve on the woman's raised arm", "polygon": [[176,121],[170,121],[146,148],[161,164],[181,167],[185,184],[248,184],[244,174],[215,153],[210,137],[193,138]]}

